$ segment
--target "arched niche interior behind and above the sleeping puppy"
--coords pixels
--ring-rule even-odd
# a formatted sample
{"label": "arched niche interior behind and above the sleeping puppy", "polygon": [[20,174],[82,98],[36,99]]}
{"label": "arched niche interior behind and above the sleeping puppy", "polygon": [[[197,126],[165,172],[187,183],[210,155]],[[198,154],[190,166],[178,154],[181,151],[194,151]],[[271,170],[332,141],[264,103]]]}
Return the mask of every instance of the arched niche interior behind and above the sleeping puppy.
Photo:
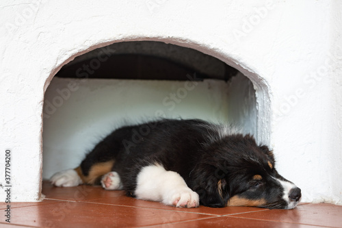
{"label": "arched niche interior behind and above the sleeping puppy", "polygon": [[77,166],[116,127],[160,117],[235,123],[267,143],[267,126],[259,127],[268,116],[263,81],[230,65],[155,41],[117,42],[79,55],[45,93],[43,179]]}

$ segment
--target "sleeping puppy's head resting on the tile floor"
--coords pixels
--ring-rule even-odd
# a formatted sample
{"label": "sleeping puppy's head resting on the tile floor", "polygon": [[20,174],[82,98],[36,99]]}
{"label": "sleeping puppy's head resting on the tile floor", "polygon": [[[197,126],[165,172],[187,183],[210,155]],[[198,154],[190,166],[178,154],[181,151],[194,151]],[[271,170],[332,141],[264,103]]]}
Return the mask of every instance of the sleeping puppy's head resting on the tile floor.
{"label": "sleeping puppy's head resting on the tile floor", "polygon": [[300,188],[278,174],[272,151],[252,136],[226,136],[206,151],[194,180],[202,205],[292,209],[299,203]]}

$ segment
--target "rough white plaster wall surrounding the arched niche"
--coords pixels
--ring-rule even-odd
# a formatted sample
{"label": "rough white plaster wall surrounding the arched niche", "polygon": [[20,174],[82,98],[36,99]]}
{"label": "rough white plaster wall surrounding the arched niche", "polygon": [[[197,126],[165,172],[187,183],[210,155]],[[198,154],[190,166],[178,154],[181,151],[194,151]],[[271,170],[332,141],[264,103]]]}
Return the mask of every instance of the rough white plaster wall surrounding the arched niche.
{"label": "rough white plaster wall surrounding the arched niche", "polygon": [[113,42],[156,40],[246,75],[256,90],[257,138],[274,149],[280,173],[304,201],[341,203],[341,4],[1,1],[0,149],[13,151],[13,200],[40,198],[42,105],[60,67]]}

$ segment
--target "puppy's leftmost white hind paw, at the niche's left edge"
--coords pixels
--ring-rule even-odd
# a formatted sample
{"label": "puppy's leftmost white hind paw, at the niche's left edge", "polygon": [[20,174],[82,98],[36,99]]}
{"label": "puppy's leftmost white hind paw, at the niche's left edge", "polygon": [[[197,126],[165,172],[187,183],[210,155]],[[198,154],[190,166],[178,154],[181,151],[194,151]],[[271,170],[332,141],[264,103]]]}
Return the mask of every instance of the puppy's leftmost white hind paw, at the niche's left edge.
{"label": "puppy's leftmost white hind paw, at the niche's left edge", "polygon": [[57,187],[74,187],[83,183],[81,177],[73,169],[55,173],[50,179],[51,183]]}

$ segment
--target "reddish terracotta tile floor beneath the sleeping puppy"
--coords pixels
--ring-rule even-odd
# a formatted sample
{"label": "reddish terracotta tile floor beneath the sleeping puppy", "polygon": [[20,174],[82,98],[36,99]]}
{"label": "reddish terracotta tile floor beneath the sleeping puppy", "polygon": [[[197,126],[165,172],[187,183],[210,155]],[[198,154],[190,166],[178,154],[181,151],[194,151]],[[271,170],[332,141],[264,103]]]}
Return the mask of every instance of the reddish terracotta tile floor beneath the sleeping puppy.
{"label": "reddish terracotta tile floor beneath the sleeping puppy", "polygon": [[[302,203],[294,210],[255,207],[183,209],[126,197],[101,187],[55,188],[43,182],[40,203],[12,203],[0,227],[342,227],[342,206]],[[0,203],[3,212],[5,203]]]}

